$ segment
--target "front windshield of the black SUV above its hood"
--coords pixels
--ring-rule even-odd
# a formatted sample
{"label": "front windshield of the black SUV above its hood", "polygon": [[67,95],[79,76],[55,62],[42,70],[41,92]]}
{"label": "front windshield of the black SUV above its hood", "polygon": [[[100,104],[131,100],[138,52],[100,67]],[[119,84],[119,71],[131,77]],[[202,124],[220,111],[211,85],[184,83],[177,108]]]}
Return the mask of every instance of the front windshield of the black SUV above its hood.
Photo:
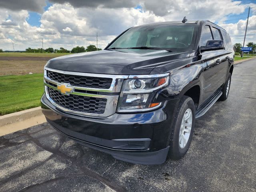
{"label": "front windshield of the black SUV above its hood", "polygon": [[195,24],[169,24],[134,27],[127,30],[108,49],[157,48],[189,51],[193,46]]}

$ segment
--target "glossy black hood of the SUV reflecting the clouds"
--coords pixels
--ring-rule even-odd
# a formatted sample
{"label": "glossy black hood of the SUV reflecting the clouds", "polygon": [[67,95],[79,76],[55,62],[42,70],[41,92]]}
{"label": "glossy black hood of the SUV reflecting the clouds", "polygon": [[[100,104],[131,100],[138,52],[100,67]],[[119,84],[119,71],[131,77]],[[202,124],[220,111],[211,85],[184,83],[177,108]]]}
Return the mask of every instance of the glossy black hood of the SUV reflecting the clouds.
{"label": "glossy black hood of the SUV reflecting the clouds", "polygon": [[166,50],[102,50],[57,57],[49,60],[47,67],[100,74],[150,74],[159,65],[189,57],[188,52]]}

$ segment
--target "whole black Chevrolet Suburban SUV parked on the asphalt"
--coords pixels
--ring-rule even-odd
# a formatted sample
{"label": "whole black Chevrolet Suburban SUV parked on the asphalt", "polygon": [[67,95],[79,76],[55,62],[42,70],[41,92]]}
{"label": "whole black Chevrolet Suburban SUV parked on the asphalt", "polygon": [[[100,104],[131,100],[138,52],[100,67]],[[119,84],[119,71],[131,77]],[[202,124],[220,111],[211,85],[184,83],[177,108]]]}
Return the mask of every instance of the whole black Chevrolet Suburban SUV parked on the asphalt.
{"label": "whole black Chevrolet Suburban SUV parked on the asphalt", "polygon": [[119,160],[184,156],[195,119],[228,98],[234,50],[218,25],[183,22],[135,26],[102,51],[49,60],[41,98],[47,121]]}

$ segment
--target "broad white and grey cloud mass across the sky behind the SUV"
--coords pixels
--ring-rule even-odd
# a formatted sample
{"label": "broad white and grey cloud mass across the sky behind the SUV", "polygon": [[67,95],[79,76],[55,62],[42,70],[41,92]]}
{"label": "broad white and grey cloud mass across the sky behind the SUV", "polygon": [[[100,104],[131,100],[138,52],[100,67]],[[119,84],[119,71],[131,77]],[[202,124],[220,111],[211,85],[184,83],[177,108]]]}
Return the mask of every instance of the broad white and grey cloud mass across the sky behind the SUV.
{"label": "broad white and grey cloud mass across the sky behind the SUV", "polygon": [[[115,4],[114,0],[111,2],[75,0],[70,3],[53,4],[41,14],[39,27],[31,26],[26,21],[31,7],[28,6],[28,10],[11,10],[6,4],[6,8],[0,7],[0,48],[11,50],[12,41],[16,45],[16,50],[38,48],[43,38],[45,48],[71,49],[74,46],[96,44],[97,32],[98,47],[104,48],[118,34],[131,26],[182,20],[184,16],[189,20],[218,22],[231,35],[233,43],[242,43],[246,19],[241,19],[236,24],[225,24],[225,20],[229,14],[243,13],[248,6],[251,6],[252,13],[256,13],[256,4],[241,4],[240,1],[232,0],[131,0],[122,1],[123,3],[120,1],[118,4]],[[134,5],[138,4],[142,6],[143,12],[134,9]],[[40,3],[37,8],[42,6],[43,3]],[[256,16],[250,17],[249,20],[246,42],[249,41],[256,42]]]}

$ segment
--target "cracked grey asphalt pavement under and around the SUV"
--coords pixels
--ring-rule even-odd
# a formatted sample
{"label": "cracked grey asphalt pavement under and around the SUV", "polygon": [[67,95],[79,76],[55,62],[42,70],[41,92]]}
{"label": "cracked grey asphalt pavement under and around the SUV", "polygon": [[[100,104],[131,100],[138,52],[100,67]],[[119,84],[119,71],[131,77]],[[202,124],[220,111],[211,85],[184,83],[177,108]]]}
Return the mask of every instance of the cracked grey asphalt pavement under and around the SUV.
{"label": "cracked grey asphalt pavement under and around the SUV", "polygon": [[136,165],[47,123],[0,137],[0,191],[256,191],[256,59],[235,66],[228,100],[196,120],[181,160]]}

